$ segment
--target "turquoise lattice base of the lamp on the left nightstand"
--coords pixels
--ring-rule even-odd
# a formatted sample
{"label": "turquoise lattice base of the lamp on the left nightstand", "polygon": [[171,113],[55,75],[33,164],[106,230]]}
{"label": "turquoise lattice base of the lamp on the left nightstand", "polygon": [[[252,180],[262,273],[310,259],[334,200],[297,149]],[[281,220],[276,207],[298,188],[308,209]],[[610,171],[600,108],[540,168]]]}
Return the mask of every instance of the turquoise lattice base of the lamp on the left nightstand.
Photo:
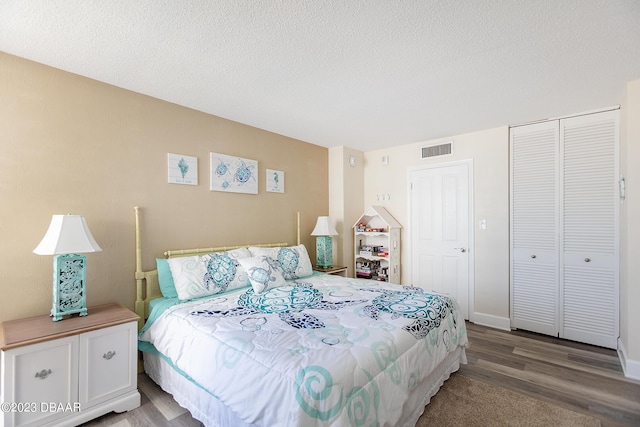
{"label": "turquoise lattice base of the lamp on the left nightstand", "polygon": [[87,315],[86,272],[87,257],[81,254],[64,254],[53,257],[53,307],[54,321],[66,314]]}

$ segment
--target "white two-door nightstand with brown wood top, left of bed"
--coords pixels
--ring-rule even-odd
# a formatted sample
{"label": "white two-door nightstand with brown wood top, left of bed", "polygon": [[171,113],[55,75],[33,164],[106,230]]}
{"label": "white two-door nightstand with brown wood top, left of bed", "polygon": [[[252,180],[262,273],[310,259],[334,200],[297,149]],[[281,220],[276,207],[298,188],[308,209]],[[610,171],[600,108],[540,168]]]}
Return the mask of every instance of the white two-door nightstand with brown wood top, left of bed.
{"label": "white two-door nightstand with brown wood top, left of bed", "polygon": [[0,325],[0,426],[75,426],[140,406],[138,316],[118,304]]}

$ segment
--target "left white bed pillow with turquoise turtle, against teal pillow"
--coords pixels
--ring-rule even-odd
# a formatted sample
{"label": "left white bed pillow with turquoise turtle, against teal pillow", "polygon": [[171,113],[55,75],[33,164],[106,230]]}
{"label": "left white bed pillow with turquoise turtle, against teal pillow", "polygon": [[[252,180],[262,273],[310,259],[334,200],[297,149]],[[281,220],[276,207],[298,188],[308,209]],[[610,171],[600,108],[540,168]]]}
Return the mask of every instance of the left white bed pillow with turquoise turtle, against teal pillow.
{"label": "left white bed pillow with turquoise turtle, against teal pillow", "polygon": [[247,274],[238,259],[251,256],[246,248],[207,255],[170,258],[178,298],[190,300],[249,286]]}

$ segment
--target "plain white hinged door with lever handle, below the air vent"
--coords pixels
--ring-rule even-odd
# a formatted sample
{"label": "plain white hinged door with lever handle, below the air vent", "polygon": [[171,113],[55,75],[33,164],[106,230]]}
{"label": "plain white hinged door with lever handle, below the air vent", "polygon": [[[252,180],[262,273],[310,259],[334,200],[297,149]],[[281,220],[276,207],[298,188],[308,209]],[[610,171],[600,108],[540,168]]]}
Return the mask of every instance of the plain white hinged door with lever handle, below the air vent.
{"label": "plain white hinged door with lever handle, below the air vent", "polygon": [[413,286],[453,296],[469,318],[469,165],[411,171]]}

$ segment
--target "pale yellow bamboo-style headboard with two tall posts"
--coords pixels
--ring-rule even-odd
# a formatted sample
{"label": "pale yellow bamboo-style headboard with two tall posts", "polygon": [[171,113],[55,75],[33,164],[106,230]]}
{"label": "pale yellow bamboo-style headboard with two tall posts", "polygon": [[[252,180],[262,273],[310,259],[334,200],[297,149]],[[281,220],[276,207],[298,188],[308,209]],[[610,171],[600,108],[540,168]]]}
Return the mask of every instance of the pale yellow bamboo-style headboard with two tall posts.
{"label": "pale yellow bamboo-style headboard with two tall posts", "polygon": [[[156,299],[162,298],[162,293],[160,292],[160,284],[158,282],[158,270],[142,270],[142,242],[140,240],[140,208],[133,208],[136,213],[136,303],[135,303],[135,312],[138,316],[140,316],[140,320],[138,321],[138,329],[141,329],[144,325],[145,320],[149,317],[149,302]],[[297,213],[297,244],[300,244],[300,212]],[[164,252],[164,256],[167,258],[176,258],[182,256],[192,256],[199,254],[208,254],[211,252],[224,252],[230,251],[232,249],[238,248],[246,248],[248,246],[257,246],[261,248],[275,248],[275,247],[286,247],[289,246],[288,243],[280,242],[280,243],[258,243],[258,244],[249,244],[249,245],[238,245],[238,246],[220,246],[220,247],[212,247],[212,248],[198,248],[198,249],[179,249],[179,250],[171,250]]]}

